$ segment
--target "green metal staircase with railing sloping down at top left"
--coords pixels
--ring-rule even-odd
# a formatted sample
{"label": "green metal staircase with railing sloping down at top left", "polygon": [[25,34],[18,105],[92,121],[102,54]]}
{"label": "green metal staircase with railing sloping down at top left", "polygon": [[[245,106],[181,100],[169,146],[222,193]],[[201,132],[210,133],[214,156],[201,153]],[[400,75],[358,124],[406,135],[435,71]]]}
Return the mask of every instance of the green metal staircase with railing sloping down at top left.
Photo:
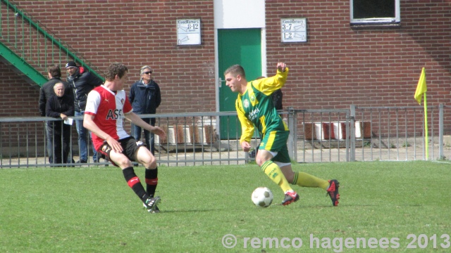
{"label": "green metal staircase with railing sloping down at top left", "polygon": [[64,65],[68,60],[85,67],[104,80],[87,60],[12,1],[0,0],[0,61],[32,85],[47,82],[49,64]]}

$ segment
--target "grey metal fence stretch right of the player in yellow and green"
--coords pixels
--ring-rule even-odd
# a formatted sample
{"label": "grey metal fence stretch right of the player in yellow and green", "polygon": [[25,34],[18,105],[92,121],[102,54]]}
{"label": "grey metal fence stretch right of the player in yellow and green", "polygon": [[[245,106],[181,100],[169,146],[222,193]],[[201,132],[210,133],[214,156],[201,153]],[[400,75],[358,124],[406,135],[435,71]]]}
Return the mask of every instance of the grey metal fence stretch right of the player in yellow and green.
{"label": "grey metal fence stretch right of the player in yellow and green", "polygon": [[450,108],[428,108],[427,144],[421,106],[293,110],[299,133],[293,156],[297,162],[444,160],[451,156]]}

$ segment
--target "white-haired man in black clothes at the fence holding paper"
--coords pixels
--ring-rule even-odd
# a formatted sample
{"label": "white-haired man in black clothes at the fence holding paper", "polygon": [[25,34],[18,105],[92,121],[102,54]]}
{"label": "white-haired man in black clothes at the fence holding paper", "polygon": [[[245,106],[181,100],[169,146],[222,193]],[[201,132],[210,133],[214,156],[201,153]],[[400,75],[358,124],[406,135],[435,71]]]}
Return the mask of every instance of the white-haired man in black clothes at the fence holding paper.
{"label": "white-haired man in black clothes at the fence holding paper", "polygon": [[54,85],[55,95],[47,100],[46,116],[61,118],[61,121],[49,121],[47,126],[51,136],[51,151],[54,164],[66,164],[70,150],[70,124],[64,124],[63,120],[74,115],[73,98],[65,92],[63,82]]}

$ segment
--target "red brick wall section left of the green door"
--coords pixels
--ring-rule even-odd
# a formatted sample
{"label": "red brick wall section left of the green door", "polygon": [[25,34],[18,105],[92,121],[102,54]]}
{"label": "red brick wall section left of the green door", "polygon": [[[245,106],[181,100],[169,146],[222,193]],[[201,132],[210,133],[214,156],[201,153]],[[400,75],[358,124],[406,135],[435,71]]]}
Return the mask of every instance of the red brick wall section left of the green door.
{"label": "red brick wall section left of the green door", "polygon": [[[163,97],[158,112],[214,110],[213,1],[14,2],[99,70],[114,61],[125,63],[130,70],[127,91],[140,79],[140,67],[152,66]],[[178,18],[202,19],[202,46],[177,46]],[[15,79],[11,86],[30,89],[13,72],[8,76]],[[6,89],[3,83],[1,89]],[[31,104],[28,115],[37,116],[32,108],[37,98]]]}

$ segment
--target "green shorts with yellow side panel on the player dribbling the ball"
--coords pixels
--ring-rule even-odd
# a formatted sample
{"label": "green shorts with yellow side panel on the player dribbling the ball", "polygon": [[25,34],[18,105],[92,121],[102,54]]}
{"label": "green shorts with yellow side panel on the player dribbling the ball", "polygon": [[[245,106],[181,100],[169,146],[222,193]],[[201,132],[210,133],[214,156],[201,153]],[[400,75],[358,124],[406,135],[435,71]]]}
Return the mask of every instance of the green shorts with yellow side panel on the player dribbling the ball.
{"label": "green shorts with yellow side panel on the player dribbling the ball", "polygon": [[261,139],[259,150],[277,152],[277,155],[272,159],[273,162],[291,162],[287,147],[287,140],[289,135],[290,131],[266,132],[266,134]]}

